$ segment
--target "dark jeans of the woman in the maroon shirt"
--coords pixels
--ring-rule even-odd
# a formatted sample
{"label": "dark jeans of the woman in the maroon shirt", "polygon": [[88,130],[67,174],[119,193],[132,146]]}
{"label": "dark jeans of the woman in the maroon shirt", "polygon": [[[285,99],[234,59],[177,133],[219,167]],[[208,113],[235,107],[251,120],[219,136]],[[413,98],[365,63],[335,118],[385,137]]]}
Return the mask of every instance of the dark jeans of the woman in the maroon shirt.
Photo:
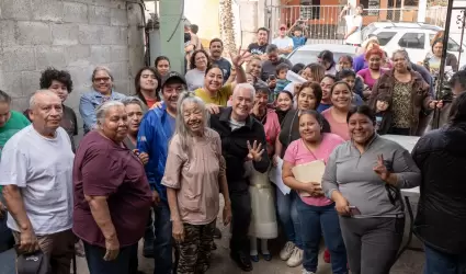
{"label": "dark jeans of the woman in the maroon shirt", "polygon": [[[86,260],[88,261],[89,273],[91,274],[127,274],[129,271],[129,260],[134,247],[125,247],[120,249],[118,256],[113,261],[104,261],[105,249],[84,243]],[[137,243],[136,243],[137,244]]]}

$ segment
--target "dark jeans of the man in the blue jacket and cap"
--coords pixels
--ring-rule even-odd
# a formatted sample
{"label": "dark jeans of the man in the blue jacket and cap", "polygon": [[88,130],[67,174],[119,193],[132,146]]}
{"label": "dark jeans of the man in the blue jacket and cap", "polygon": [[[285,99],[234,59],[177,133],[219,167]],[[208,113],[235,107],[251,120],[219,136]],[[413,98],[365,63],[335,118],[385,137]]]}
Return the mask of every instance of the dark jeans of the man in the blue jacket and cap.
{"label": "dark jeans of the man in the blue jacket and cap", "polygon": [[154,207],[154,274],[171,274],[173,269],[171,220],[168,202],[161,201]]}

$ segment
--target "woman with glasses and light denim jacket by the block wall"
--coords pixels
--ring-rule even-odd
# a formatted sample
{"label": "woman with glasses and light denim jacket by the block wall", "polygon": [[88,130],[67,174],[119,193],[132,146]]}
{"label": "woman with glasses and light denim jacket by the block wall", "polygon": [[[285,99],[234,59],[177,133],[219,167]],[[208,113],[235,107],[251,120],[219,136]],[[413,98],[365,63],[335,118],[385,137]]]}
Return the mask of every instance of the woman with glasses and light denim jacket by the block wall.
{"label": "woman with glasses and light denim jacket by the block wall", "polygon": [[96,128],[95,109],[106,101],[122,101],[125,95],[113,91],[113,76],[109,68],[96,67],[92,72],[92,91],[82,94],[79,113],[84,124],[84,134]]}

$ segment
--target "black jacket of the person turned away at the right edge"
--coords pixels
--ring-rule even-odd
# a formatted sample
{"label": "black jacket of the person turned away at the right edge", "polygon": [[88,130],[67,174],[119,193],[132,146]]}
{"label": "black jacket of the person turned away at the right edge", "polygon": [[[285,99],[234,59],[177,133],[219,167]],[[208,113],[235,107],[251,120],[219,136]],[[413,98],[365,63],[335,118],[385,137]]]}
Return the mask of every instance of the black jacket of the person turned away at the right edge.
{"label": "black jacket of the person turned away at the right edge", "polygon": [[466,123],[421,137],[412,158],[422,172],[414,233],[436,250],[466,252]]}

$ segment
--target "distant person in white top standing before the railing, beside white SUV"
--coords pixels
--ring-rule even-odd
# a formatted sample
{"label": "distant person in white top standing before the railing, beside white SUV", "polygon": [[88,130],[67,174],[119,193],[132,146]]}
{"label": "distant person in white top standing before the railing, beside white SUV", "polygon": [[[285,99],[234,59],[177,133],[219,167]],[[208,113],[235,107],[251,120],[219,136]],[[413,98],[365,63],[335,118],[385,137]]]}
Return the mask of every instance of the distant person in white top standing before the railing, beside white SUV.
{"label": "distant person in white top standing before the railing, beside white SUV", "polygon": [[[340,13],[340,19],[344,19],[346,22],[346,34],[344,35],[345,43],[348,45],[361,46],[362,43],[362,33],[363,27],[363,13],[364,5],[359,4],[355,10],[355,14],[348,14],[351,7],[350,4],[345,5]],[[344,15],[346,14],[346,15]]]}

